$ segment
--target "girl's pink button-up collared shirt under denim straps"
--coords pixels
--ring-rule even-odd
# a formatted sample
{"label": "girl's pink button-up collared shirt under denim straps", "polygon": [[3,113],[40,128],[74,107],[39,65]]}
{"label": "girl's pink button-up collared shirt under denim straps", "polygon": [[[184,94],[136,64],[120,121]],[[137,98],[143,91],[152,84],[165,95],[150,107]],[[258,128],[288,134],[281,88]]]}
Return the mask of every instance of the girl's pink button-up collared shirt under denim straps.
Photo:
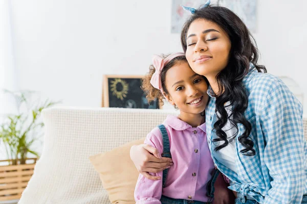
{"label": "girl's pink button-up collared shirt under denim straps", "polygon": [[[171,198],[207,202],[207,183],[214,169],[207,143],[206,124],[192,127],[178,117],[169,115],[163,122],[168,133],[173,165],[169,168],[165,188],[162,179],[152,181],[142,174],[135,189],[137,203],[161,203],[161,195]],[[162,154],[163,141],[158,127],[146,137],[145,144],[157,148]],[[161,176],[159,173],[152,175]],[[189,199],[189,196],[192,198]]]}

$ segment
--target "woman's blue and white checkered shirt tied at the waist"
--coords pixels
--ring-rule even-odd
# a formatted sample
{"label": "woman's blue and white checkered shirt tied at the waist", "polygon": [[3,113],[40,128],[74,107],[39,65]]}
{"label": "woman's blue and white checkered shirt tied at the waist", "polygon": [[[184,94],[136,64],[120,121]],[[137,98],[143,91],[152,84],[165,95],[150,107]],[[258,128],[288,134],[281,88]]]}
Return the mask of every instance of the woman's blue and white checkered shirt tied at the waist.
{"label": "woman's blue and white checkered shirt tied at the waist", "polygon": [[[243,80],[248,94],[245,117],[252,125],[249,138],[254,142],[255,156],[244,156],[245,147],[236,137],[236,172],[214,163],[230,179],[229,189],[242,199],[252,197],[259,203],[301,203],[307,194],[307,143],[303,136],[302,105],[288,87],[269,73],[258,72],[251,65]],[[207,138],[211,152],[216,144],[213,124],[216,121],[215,97],[208,88],[206,108]],[[244,127],[238,124],[238,135]],[[229,136],[230,137],[230,136]],[[246,196],[246,197],[245,197]]]}

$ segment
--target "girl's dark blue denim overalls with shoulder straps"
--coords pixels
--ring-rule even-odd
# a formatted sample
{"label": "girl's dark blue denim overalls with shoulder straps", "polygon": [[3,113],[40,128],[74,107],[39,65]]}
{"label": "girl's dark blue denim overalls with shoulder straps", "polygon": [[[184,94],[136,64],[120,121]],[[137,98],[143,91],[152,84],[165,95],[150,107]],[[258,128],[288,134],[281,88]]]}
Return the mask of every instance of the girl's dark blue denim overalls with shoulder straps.
{"label": "girl's dark blue denim overalls with shoulder straps", "polygon": [[[169,138],[168,138],[168,134],[166,132],[165,126],[163,124],[160,124],[158,125],[158,127],[161,132],[162,141],[163,141],[162,157],[171,158]],[[167,173],[168,173],[168,169],[163,170],[162,188],[165,188]],[[213,200],[213,196],[214,196],[214,183],[219,173],[220,171],[216,169],[211,177],[211,180],[207,184],[207,196],[210,198],[208,202],[202,202],[202,201],[196,201],[196,200],[175,199],[175,198],[166,197],[164,195],[161,196],[160,201],[162,202],[162,204],[188,204],[188,203],[211,204]]]}

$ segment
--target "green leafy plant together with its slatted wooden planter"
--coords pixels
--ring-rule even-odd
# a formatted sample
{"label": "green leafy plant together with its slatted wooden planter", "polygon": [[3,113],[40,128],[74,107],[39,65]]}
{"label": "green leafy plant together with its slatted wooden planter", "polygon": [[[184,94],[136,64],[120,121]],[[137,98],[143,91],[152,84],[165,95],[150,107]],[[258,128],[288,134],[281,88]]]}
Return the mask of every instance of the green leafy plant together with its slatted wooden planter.
{"label": "green leafy plant together with its slatted wooden planter", "polygon": [[[0,161],[0,201],[19,199],[34,172],[36,159],[34,143],[42,135],[41,111],[56,102],[49,99],[40,103],[31,101],[31,91],[10,92],[16,102],[16,113],[2,118],[0,123],[0,144],[5,146],[7,159]],[[27,161],[32,154],[33,163]],[[7,162],[9,165],[7,165]]]}

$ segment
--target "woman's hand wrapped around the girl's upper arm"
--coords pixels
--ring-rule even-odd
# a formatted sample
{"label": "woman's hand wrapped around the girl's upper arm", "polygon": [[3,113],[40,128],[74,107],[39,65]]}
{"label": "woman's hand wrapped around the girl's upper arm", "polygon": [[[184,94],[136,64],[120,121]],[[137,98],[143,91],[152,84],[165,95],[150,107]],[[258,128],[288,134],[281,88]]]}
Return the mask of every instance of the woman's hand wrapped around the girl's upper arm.
{"label": "woman's hand wrapped around the girl's upper arm", "polygon": [[161,177],[153,176],[149,173],[158,173],[173,165],[170,158],[161,157],[159,151],[148,144],[132,146],[130,149],[130,158],[138,171],[150,180],[159,180]]}

